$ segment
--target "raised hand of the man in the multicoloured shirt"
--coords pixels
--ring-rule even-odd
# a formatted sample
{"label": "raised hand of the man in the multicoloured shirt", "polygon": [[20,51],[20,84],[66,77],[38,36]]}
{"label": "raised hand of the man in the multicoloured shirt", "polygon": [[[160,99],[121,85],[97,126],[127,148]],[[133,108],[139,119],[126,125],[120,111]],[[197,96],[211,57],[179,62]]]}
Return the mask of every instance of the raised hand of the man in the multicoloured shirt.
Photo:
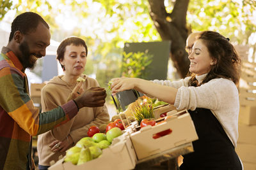
{"label": "raised hand of the man in the multicoloured shirt", "polygon": [[83,107],[100,107],[104,105],[106,96],[107,94],[104,88],[91,87],[76,97],[74,101],[76,101],[79,109]]}

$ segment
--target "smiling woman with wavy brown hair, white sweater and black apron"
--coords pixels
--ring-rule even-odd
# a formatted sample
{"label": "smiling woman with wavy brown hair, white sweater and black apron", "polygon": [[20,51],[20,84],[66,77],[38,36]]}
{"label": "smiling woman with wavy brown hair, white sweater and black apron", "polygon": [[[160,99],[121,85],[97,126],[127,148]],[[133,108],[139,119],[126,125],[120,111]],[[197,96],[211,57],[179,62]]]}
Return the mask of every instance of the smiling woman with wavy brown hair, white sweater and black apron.
{"label": "smiling woman with wavy brown hair, white sweater and black apron", "polygon": [[180,169],[243,169],[235,151],[239,56],[229,39],[204,31],[188,58],[191,76],[179,81],[113,78],[112,93],[135,89],[189,111],[199,139],[193,142],[195,152],[184,155]]}

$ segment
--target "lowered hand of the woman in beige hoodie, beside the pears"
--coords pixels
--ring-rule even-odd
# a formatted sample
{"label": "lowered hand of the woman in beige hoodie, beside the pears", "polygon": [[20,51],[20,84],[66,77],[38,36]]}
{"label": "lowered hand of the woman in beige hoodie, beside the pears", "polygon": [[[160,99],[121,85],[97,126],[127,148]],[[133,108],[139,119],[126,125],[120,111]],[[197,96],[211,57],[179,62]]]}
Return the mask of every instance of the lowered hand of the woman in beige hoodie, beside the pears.
{"label": "lowered hand of the woman in beige hoodie, beside the pears", "polygon": [[[67,141],[67,138],[69,142]],[[53,141],[51,145],[49,145],[51,152],[65,152],[73,143],[71,136],[68,135],[67,138],[65,138],[63,141]]]}

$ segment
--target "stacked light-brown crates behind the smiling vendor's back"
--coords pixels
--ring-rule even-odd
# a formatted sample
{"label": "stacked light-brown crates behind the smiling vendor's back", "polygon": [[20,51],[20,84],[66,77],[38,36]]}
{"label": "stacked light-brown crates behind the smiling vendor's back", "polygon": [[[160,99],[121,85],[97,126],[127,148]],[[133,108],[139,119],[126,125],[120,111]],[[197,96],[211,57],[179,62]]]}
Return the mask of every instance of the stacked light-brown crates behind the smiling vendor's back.
{"label": "stacked light-brown crates behind the smiling vendor's back", "polygon": [[256,169],[256,63],[243,61],[239,83],[239,138],[236,152],[244,169]]}

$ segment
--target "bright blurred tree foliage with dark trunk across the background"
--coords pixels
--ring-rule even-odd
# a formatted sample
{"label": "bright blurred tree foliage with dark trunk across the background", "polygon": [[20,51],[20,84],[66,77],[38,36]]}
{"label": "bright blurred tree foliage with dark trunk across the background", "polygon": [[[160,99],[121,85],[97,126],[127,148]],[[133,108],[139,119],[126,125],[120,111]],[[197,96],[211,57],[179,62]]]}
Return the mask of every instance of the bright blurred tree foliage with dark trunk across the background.
{"label": "bright blurred tree foliage with dark trunk across the background", "polygon": [[[252,0],[2,0],[0,20],[8,10],[17,15],[40,13],[57,41],[73,35],[84,38],[88,59],[98,64],[97,75],[105,78],[102,83],[109,81],[106,77],[120,76],[125,42],[170,39],[170,57],[181,77],[188,72],[184,46],[191,31],[218,31],[234,43],[256,49],[256,42],[250,42],[256,32],[256,2]],[[113,68],[111,73],[104,70]]]}

